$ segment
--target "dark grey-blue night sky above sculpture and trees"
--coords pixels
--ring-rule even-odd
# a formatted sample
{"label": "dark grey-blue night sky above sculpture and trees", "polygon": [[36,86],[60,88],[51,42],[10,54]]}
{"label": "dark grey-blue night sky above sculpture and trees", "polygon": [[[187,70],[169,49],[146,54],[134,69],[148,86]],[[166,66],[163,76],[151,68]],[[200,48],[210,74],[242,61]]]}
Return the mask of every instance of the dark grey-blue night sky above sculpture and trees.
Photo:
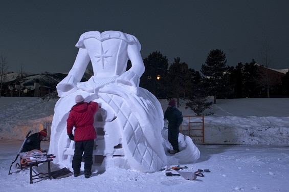
{"label": "dark grey-blue night sky above sculpture and trees", "polygon": [[8,71],[68,72],[86,31],[135,35],[142,57],[154,51],[173,62],[180,57],[199,71],[210,50],[226,53],[227,65],[260,61],[267,41],[274,69],[289,68],[289,1],[3,0],[0,55]]}

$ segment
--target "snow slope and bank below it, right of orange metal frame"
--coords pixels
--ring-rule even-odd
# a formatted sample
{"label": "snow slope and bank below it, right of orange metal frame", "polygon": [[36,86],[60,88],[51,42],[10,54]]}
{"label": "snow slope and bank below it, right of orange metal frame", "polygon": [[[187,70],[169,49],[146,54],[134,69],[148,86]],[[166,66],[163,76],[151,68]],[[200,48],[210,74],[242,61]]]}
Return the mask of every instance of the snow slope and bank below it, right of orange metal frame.
{"label": "snow slope and bank below it, right of orange metal frame", "polygon": [[219,99],[205,117],[206,143],[289,145],[289,98]]}

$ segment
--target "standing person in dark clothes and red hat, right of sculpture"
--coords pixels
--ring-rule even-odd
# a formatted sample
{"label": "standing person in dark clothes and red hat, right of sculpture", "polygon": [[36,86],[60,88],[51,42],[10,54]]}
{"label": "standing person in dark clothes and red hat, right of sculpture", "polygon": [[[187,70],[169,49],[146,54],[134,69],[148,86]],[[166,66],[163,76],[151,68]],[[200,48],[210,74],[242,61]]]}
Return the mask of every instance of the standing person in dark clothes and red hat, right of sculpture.
{"label": "standing person in dark clothes and red hat, right of sculpture", "polygon": [[173,150],[170,150],[170,154],[176,154],[179,150],[179,127],[183,122],[183,115],[180,110],[175,107],[175,101],[172,99],[168,104],[168,108],[165,111],[164,119],[167,119],[168,124],[168,141],[172,145]]}

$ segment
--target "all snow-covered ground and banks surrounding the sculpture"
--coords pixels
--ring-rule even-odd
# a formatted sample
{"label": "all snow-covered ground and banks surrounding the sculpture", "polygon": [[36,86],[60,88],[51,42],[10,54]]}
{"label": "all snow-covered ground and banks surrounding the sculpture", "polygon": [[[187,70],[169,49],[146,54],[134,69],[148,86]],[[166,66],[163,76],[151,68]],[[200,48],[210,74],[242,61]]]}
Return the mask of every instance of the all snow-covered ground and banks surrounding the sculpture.
{"label": "all snow-covered ground and banks surrounding the sculpture", "polygon": [[[165,109],[167,102],[160,102]],[[183,170],[211,172],[194,181],[167,177],[165,170],[144,174],[113,167],[98,172],[97,166],[89,179],[81,175],[30,184],[29,170],[19,172],[14,166],[13,174],[8,175],[20,140],[29,130],[37,132],[52,120],[55,103],[31,97],[0,98],[1,191],[289,191],[289,98],[217,100],[210,110],[214,115],[205,117],[205,144],[214,145],[195,143],[201,157],[196,163],[185,164],[188,168]],[[185,110],[185,102],[180,110],[183,115],[193,115]],[[48,147],[49,142],[43,141],[42,148]],[[35,169],[45,172],[46,165]]]}

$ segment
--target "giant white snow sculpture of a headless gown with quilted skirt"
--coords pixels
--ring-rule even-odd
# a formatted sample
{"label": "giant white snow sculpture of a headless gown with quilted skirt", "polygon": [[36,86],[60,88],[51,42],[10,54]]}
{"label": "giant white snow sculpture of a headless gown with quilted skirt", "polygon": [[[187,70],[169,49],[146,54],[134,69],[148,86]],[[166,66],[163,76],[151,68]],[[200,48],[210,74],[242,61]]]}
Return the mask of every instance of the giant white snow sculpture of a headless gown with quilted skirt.
{"label": "giant white snow sculpture of a headless gown with quilted skirt", "polygon": [[[54,163],[71,166],[74,141],[66,133],[66,119],[75,96],[96,101],[97,131],[94,161],[105,167],[120,166],[151,173],[167,163],[163,147],[163,111],[150,92],[139,87],[144,72],[138,39],[120,31],[90,31],[76,44],[79,52],[74,65],[58,85],[60,99],[55,105],[49,153]],[[132,67],[126,71],[127,60]],[[94,75],[80,82],[89,62]]]}

